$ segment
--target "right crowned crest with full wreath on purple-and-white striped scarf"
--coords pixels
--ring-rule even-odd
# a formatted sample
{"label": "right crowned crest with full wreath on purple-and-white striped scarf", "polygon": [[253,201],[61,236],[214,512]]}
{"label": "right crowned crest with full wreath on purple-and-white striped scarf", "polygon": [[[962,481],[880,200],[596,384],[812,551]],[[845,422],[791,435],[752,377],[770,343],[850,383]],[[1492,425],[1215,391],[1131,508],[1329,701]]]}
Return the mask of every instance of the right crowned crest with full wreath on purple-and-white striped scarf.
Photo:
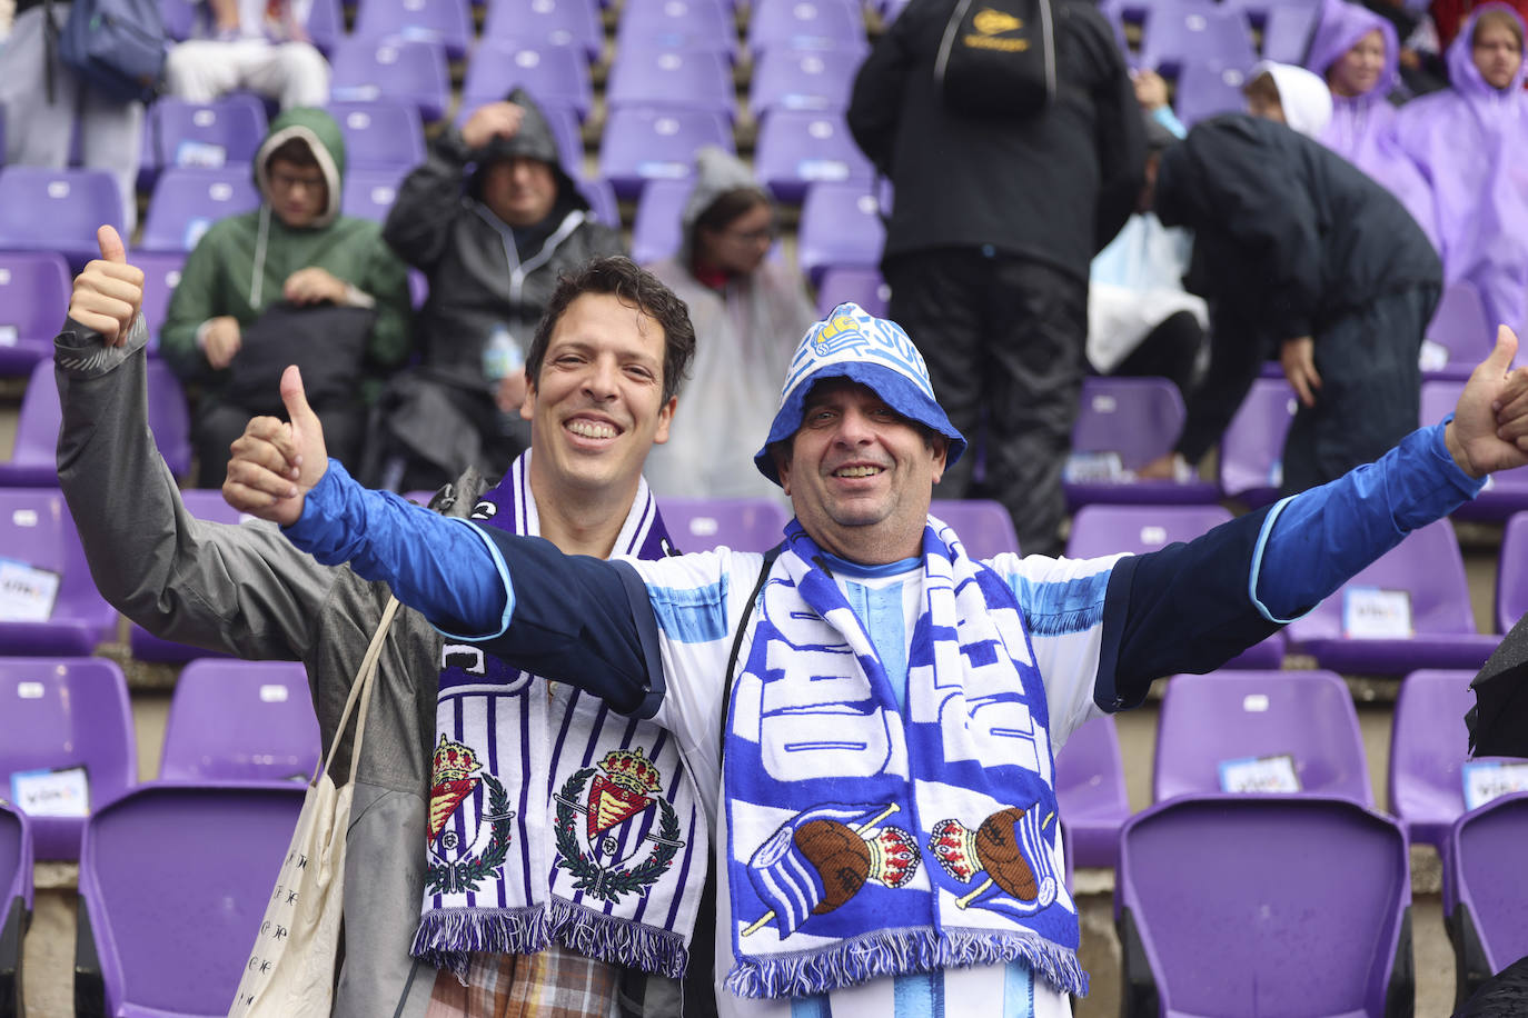
{"label": "right crowned crest with full wreath on purple-and-white striped scarf", "polygon": [[573,890],[619,902],[668,873],[685,842],[674,807],[656,795],[662,788],[662,771],[640,746],[613,749],[564,781],[555,797],[558,867],[573,875]]}

